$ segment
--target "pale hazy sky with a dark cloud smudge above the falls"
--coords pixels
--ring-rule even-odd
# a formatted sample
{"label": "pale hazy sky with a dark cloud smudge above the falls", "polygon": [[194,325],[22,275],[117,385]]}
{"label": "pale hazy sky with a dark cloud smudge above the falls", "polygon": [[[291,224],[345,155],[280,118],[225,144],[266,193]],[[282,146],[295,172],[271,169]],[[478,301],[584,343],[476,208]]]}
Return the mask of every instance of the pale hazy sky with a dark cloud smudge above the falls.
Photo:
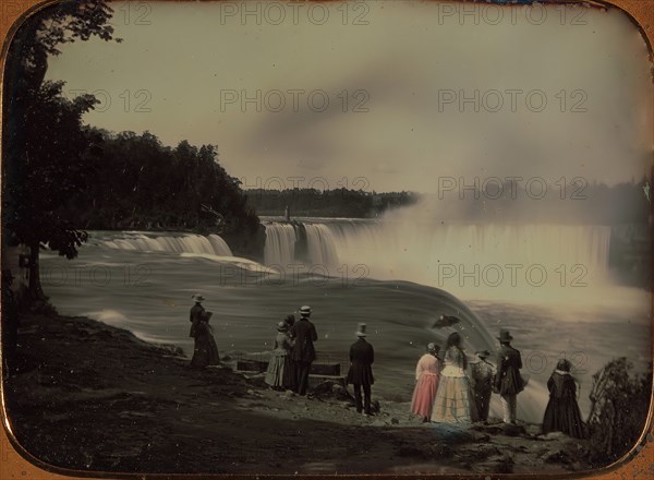
{"label": "pale hazy sky with a dark cloud smudge above the falls", "polygon": [[444,178],[640,179],[652,82],[617,10],[112,3],[122,43],[51,58],[89,124],[218,146],[245,188],[436,192]]}

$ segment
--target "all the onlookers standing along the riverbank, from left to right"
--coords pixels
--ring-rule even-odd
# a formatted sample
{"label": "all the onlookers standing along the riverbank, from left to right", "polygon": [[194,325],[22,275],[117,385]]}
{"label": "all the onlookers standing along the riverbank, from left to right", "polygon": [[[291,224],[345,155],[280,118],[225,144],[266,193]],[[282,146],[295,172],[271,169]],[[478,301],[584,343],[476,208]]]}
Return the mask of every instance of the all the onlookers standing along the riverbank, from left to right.
{"label": "all the onlookers standing along the riverbank, from left to right", "polygon": [[[191,365],[204,368],[219,364],[218,347],[209,325],[211,312],[206,312],[202,307],[203,296],[194,295],[193,299],[195,304],[190,314],[190,336],[195,339],[195,346]],[[274,389],[306,395],[311,365],[316,359],[314,343],[318,336],[315,325],[310,321],[311,307],[302,307],[299,313],[299,321],[291,314],[277,324],[275,348],[265,382]],[[372,371],[375,351],[366,341],[366,324],[359,324],[355,336],[358,340],[350,347],[347,383],[354,387],[356,411],[370,416],[371,389],[375,382]],[[443,357],[439,357],[440,349],[436,344],[427,344],[427,351],[415,368],[411,411],[422,417],[424,422],[486,421],[491,395],[496,393],[500,396],[504,422],[514,424],[517,397],[524,389],[524,381],[520,375],[522,358],[520,351],[511,346],[513,337],[508,331],[500,331],[497,339],[500,349],[495,365],[486,360],[491,356],[487,350],[477,351],[476,361],[469,365],[468,356],[461,347],[461,336],[457,332],[447,338]],[[549,401],[543,419],[543,432],[561,431],[582,437],[584,427],[570,367],[568,360],[560,360],[547,382]]]}

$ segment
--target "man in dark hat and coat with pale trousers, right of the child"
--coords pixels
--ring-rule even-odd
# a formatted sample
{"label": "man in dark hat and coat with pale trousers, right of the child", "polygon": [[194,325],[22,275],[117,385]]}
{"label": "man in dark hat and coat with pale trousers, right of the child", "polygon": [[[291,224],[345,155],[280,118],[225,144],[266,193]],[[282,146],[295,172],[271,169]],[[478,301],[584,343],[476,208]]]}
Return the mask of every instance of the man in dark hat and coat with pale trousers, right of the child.
{"label": "man in dark hat and coat with pale trousers, right of the child", "polygon": [[497,339],[500,348],[497,352],[495,388],[501,398],[504,422],[516,423],[517,396],[524,388],[522,376],[520,376],[522,359],[520,352],[511,347],[513,337],[508,331],[500,331]]}

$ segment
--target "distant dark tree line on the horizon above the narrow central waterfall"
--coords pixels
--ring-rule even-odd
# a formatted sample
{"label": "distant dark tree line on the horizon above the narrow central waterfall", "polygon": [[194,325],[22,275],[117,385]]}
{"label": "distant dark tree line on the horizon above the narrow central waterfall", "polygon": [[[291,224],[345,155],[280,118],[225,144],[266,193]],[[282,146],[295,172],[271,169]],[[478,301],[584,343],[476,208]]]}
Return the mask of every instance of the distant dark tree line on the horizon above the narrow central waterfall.
{"label": "distant dark tree line on the horizon above the narrow central waterfall", "polygon": [[344,188],[324,191],[253,189],[246,193],[247,205],[259,215],[283,216],[288,206],[293,217],[374,218],[388,209],[413,205],[420,197],[412,192],[377,193]]}

